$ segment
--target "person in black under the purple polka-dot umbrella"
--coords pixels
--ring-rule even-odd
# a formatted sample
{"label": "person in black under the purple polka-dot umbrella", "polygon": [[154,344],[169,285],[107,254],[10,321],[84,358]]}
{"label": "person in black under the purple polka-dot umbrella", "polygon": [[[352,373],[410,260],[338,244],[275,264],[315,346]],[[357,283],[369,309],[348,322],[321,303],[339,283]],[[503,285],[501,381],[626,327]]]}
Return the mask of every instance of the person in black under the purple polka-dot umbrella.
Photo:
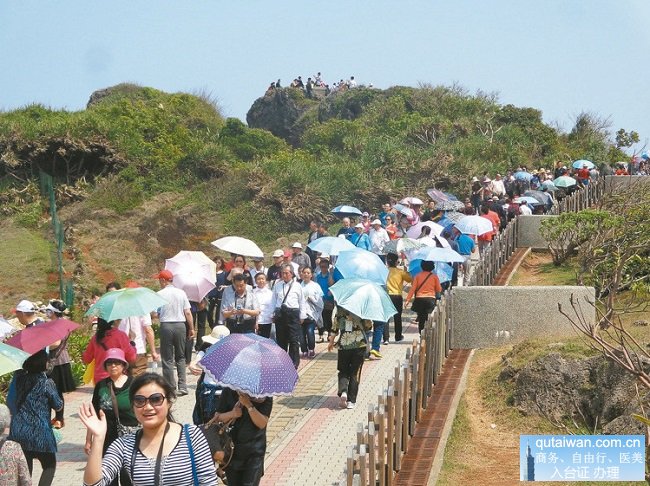
{"label": "person in black under the purple polka-dot umbrella", "polygon": [[230,432],[234,452],[226,466],[228,486],[257,486],[264,476],[266,426],[273,410],[273,398],[251,398],[224,388],[214,420],[234,420]]}

